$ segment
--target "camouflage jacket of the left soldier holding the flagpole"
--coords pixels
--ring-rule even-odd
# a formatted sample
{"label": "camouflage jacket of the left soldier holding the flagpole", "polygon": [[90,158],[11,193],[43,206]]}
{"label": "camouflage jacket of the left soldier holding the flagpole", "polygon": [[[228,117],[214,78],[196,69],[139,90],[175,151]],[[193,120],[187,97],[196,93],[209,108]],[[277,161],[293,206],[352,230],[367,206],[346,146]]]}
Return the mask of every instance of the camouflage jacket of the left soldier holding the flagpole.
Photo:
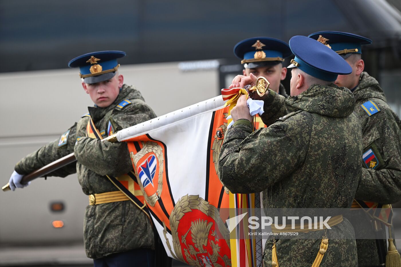
{"label": "camouflage jacket of the left soldier holding the flagpole", "polygon": [[[124,99],[129,99],[131,104],[118,107]],[[128,85],[123,85],[117,99],[109,107],[88,109],[101,133],[103,130],[107,133],[109,122],[116,132],[156,117],[141,93]],[[87,195],[117,191],[105,175],[119,176],[132,170],[128,146],[124,142],[101,142],[85,137],[88,120],[89,117],[84,116],[69,129],[63,146],[59,146],[57,139],[20,160],[15,166],[16,172],[27,174],[74,152],[77,162],[48,176],[65,177],[77,172],[82,190]],[[80,139],[76,142],[77,138]],[[154,235],[146,214],[131,201],[120,201],[87,206],[84,242],[87,256],[97,259],[132,249],[153,249]]]}

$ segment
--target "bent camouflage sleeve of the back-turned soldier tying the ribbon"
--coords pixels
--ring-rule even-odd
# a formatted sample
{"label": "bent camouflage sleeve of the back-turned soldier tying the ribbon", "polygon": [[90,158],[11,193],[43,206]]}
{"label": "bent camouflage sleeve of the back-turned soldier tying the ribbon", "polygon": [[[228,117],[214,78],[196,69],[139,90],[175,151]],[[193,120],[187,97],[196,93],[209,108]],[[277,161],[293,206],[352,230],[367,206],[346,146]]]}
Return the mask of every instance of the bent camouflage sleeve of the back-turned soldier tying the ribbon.
{"label": "bent camouflage sleeve of the back-turned soldier tying the ribbon", "polygon": [[277,122],[252,133],[249,121],[238,120],[227,130],[219,155],[221,182],[231,192],[245,194],[288,177],[304,161],[309,143],[308,125],[289,135],[290,127]]}

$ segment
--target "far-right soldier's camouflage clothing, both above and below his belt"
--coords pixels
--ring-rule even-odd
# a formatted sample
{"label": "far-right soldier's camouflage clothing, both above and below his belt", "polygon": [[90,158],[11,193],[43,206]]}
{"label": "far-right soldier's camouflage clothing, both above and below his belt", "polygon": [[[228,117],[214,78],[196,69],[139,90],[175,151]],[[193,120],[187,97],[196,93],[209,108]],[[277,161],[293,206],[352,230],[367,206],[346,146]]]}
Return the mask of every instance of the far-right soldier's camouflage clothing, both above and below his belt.
{"label": "far-right soldier's camouflage clothing, both above and below his belt", "polygon": [[[387,104],[385,94],[377,80],[368,73],[360,75],[359,84],[353,91],[356,102],[354,111],[360,119],[363,136],[363,152],[373,148],[381,165],[368,169],[362,164],[362,178],[356,190],[356,199],[392,204],[401,200],[401,121]],[[380,111],[369,116],[361,104],[372,100]],[[364,231],[374,236],[371,217],[362,220],[359,216],[348,217],[355,231]],[[385,231],[384,225],[382,225]],[[385,233],[382,233],[385,239]],[[359,266],[378,266],[379,255],[376,241],[357,239]]]}

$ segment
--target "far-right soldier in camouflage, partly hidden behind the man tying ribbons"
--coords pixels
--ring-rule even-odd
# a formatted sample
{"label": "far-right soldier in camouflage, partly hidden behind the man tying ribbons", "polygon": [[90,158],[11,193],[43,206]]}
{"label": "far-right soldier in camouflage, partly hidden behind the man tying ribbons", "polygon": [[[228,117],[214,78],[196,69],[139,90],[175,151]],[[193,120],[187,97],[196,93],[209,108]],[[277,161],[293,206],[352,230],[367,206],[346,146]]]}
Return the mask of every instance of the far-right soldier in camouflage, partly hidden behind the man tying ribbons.
{"label": "far-right soldier in camouflage, partly hidden behind the man tying ribbons", "polygon": [[[355,199],[381,204],[392,204],[401,200],[401,121],[387,104],[386,96],[377,80],[363,72],[361,46],[371,44],[363,36],[347,32],[323,31],[309,36],[339,53],[352,67],[350,75],[339,75],[336,85],[348,87],[355,96],[354,111],[362,127],[363,169]],[[359,216],[349,217],[355,231],[365,231],[375,236],[371,220]],[[379,223],[379,221],[377,221]],[[378,266],[379,256],[385,257],[385,226],[381,224],[381,238],[357,239],[359,266]],[[377,231],[376,231],[377,235]],[[378,244],[381,242],[382,244]],[[379,245],[379,247],[378,247]],[[378,249],[382,247],[382,251]],[[379,255],[381,254],[381,255]],[[381,259],[384,263],[384,259]]]}

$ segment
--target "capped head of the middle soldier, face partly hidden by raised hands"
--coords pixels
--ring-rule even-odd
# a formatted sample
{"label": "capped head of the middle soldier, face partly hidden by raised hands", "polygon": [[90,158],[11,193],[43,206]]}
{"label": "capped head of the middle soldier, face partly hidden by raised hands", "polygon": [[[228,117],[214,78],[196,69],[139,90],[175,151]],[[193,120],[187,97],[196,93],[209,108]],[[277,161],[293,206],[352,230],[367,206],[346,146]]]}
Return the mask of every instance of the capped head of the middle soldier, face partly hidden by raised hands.
{"label": "capped head of the middle soldier, face partly hidden by raised hands", "polygon": [[270,83],[269,88],[285,97],[288,95],[280,81],[286,79],[287,68],[283,67],[283,62],[291,54],[286,42],[269,37],[248,38],[234,47],[234,55],[244,66],[244,76],[265,77]]}

